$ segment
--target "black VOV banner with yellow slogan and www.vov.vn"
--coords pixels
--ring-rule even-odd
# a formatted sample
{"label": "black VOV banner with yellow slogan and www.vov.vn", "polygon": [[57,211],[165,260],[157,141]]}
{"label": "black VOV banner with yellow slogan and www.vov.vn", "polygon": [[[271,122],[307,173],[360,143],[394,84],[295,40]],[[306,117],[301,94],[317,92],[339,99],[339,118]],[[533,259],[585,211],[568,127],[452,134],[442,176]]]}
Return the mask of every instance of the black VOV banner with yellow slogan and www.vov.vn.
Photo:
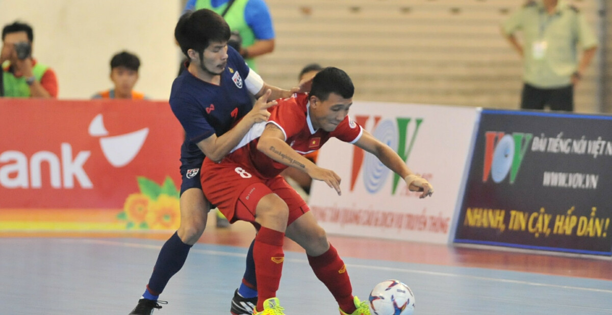
{"label": "black VOV banner with yellow slogan and www.vov.vn", "polygon": [[612,116],[483,110],[455,242],[610,256]]}

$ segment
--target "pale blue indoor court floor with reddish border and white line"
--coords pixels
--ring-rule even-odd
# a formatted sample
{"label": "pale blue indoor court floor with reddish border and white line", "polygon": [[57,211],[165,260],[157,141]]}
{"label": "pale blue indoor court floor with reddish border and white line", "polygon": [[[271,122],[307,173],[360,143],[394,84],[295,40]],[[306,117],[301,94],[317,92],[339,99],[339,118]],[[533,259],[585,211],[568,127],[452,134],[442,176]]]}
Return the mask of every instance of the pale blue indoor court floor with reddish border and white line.
{"label": "pale blue indoor court floor with reddish border and white line", "polygon": [[[214,222],[214,221],[213,221]],[[160,300],[157,315],[230,314],[254,232],[209,224]],[[144,290],[170,233],[0,233],[0,315],[127,315]],[[458,248],[330,236],[353,292],[400,279],[417,315],[612,314],[610,257]],[[278,291],[288,315],[336,315],[337,304],[303,251],[285,242]]]}

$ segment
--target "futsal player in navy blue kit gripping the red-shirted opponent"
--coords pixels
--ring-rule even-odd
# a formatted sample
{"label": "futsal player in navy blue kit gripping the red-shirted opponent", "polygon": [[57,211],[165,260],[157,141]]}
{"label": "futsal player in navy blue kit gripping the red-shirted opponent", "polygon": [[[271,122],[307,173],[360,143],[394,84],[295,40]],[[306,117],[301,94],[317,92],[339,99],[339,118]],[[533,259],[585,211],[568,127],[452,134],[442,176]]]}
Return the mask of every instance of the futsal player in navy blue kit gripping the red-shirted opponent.
{"label": "futsal player in navy blue kit gripping the red-shirted opponent", "polygon": [[[204,232],[210,210],[200,183],[204,156],[220,161],[253,124],[267,121],[270,116],[267,108],[277,104],[269,100],[302,91],[280,89],[263,82],[239,53],[227,46],[230,28],[211,10],[185,13],[174,29],[174,37],[188,58],[187,71],[174,80],[170,94],[170,106],[185,129],[181,146],[181,226],[162,246],[146,290],[130,315],[150,315],[154,309],[162,308],[159,303],[165,302],[157,298]],[[257,99],[254,105],[252,96]],[[254,279],[255,267],[248,257],[252,257],[252,247],[245,279]],[[241,289],[249,288],[243,285]]]}

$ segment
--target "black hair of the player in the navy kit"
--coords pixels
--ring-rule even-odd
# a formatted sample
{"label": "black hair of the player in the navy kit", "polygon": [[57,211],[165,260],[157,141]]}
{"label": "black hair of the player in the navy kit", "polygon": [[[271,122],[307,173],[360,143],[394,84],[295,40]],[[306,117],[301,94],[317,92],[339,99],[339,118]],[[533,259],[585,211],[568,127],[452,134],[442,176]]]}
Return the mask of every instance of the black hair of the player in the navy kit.
{"label": "black hair of the player in the navy kit", "polygon": [[185,13],[174,28],[174,38],[187,58],[188,50],[202,53],[211,42],[227,42],[230,35],[228,23],[221,15],[209,9]]}

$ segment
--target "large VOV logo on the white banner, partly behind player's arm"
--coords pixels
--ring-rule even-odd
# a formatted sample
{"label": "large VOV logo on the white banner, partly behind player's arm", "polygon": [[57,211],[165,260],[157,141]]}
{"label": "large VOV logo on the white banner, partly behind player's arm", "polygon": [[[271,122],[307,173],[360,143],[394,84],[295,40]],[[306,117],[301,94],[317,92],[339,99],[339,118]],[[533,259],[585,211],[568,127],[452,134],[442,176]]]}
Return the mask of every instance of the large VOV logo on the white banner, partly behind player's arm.
{"label": "large VOV logo on the white banner, partly behind player's arm", "polygon": [[[412,151],[412,146],[416,140],[417,134],[419,133],[419,128],[421,123],[423,123],[423,118],[403,118],[397,117],[394,120],[386,119],[381,120],[381,116],[364,116],[357,115],[355,116],[355,120],[360,126],[365,127],[365,123],[367,123],[370,118],[373,118],[373,126],[371,127],[371,134],[381,142],[389,145],[392,149],[397,152],[402,161],[407,162],[410,156],[410,152]],[[414,123],[412,123],[414,122]],[[414,129],[412,129],[412,134],[409,135],[408,126],[414,125]],[[410,137],[408,143],[406,140]],[[387,169],[387,167],[374,156],[374,154],[364,154],[364,150],[357,148],[356,146],[353,148],[353,169],[351,169],[351,187],[350,191],[353,191],[355,188],[355,184],[357,182],[357,177],[359,177],[359,173],[362,170],[364,171],[364,186],[365,189],[370,192],[370,194],[375,194],[383,188],[384,184],[387,181],[387,177],[389,173],[392,173],[391,170]],[[400,182],[400,176],[394,173],[393,178],[393,187],[391,194],[394,195],[397,190],[398,183]]]}

